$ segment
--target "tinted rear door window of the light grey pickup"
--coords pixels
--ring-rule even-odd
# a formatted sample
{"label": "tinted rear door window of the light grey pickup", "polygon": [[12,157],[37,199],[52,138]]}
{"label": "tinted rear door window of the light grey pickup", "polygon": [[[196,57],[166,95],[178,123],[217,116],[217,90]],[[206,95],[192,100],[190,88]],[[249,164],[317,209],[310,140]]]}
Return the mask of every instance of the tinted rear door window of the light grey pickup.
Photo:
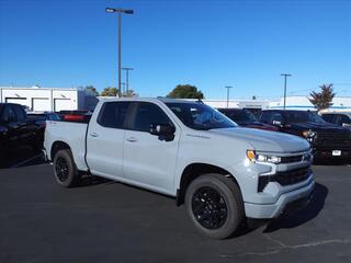
{"label": "tinted rear door window of the light grey pickup", "polygon": [[131,102],[105,102],[100,111],[98,123],[107,128],[123,128]]}

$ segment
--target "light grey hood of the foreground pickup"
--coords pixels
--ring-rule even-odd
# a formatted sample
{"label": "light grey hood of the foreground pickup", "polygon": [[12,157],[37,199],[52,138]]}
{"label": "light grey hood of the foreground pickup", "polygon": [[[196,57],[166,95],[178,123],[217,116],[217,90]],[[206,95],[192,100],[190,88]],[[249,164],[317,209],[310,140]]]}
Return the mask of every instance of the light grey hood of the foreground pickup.
{"label": "light grey hood of the foreground pickup", "polygon": [[252,128],[223,128],[211,129],[208,133],[238,140],[246,140],[258,151],[296,152],[309,148],[307,140],[288,134],[268,132]]}

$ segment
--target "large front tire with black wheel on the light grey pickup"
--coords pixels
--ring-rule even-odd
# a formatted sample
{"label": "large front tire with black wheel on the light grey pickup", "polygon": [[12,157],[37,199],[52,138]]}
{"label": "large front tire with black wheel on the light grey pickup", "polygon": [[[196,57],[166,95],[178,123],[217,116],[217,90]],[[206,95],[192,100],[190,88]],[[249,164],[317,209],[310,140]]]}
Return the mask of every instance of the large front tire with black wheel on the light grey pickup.
{"label": "large front tire with black wheel on the light grey pickup", "polygon": [[226,239],[245,218],[241,193],[236,183],[222,174],[204,174],[189,185],[185,209],[194,227],[214,239]]}

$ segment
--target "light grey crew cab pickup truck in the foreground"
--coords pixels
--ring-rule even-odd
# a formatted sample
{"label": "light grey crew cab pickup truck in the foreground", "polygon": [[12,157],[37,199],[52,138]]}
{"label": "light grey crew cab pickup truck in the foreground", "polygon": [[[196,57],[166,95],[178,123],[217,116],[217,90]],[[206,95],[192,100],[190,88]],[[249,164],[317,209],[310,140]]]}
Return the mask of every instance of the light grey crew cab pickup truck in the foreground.
{"label": "light grey crew cab pickup truck in the foreground", "polygon": [[63,186],[90,173],[174,196],[216,239],[306,204],[315,185],[305,139],[238,127],[202,102],[101,100],[87,123],[48,121],[44,147]]}

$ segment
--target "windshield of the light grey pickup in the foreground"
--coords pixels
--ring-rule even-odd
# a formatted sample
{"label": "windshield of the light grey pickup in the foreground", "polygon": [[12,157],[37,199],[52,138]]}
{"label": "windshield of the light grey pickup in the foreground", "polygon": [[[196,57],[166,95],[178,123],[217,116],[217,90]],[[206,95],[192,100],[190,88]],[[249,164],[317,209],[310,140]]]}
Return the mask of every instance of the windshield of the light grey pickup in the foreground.
{"label": "windshield of the light grey pickup in the foreground", "polygon": [[207,130],[237,127],[225,115],[202,103],[166,103],[166,105],[184,125],[193,129]]}

